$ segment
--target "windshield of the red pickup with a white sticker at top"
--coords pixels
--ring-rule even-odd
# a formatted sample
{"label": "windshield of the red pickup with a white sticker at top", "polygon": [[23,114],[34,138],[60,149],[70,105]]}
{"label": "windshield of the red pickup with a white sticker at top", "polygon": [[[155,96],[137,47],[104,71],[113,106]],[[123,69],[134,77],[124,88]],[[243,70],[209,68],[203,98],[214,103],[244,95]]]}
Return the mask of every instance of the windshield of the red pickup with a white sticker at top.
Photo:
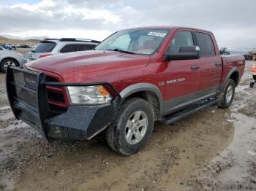
{"label": "windshield of the red pickup with a white sticker at top", "polygon": [[135,54],[151,55],[158,50],[167,29],[132,29],[118,31],[100,43],[95,50],[127,51]]}

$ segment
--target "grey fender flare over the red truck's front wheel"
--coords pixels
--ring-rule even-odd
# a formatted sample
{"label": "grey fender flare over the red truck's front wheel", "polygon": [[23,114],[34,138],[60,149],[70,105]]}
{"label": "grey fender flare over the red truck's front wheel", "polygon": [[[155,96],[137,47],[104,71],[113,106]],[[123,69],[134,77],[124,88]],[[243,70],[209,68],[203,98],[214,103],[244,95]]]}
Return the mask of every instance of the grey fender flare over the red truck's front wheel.
{"label": "grey fender flare over the red truck's front wheel", "polygon": [[125,100],[129,95],[132,95],[132,93],[141,92],[141,91],[149,91],[157,95],[158,101],[159,101],[159,114],[162,114],[162,93],[159,90],[159,88],[156,85],[150,84],[150,83],[138,83],[129,85],[128,87],[124,88],[124,90],[121,91],[121,99],[122,101]]}

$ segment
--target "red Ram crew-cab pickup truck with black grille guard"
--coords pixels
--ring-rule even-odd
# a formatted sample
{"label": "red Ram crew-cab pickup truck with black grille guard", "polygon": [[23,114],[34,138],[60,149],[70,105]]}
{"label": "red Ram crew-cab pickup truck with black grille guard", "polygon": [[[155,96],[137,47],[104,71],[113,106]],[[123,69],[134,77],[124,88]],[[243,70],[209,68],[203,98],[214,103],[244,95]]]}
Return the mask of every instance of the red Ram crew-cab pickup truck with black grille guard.
{"label": "red Ram crew-cab pickup truck with black grille guard", "polygon": [[7,95],[15,117],[47,139],[89,140],[104,130],[113,150],[132,155],[155,121],[229,107],[244,66],[242,55],[219,55],[210,31],[132,28],[91,51],[8,67]]}

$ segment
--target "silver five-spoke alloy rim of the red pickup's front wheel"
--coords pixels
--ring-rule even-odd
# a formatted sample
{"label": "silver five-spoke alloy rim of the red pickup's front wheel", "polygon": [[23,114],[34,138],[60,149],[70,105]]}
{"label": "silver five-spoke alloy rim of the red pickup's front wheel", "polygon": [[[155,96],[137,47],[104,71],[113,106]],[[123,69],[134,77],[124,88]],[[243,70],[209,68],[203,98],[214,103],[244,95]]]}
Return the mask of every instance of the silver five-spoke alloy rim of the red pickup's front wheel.
{"label": "silver five-spoke alloy rim of the red pickup's front wheel", "polygon": [[148,129],[148,117],[145,112],[137,111],[131,114],[124,128],[125,139],[129,144],[138,144]]}

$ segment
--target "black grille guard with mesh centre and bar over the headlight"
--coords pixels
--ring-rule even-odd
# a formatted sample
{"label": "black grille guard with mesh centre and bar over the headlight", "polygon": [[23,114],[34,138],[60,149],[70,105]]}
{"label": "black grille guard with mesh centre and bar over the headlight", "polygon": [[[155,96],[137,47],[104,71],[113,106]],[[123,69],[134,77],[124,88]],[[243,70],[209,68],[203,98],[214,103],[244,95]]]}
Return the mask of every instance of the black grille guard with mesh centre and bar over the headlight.
{"label": "black grille guard with mesh centre and bar over the headlight", "polygon": [[46,75],[42,72],[34,72],[18,67],[9,66],[6,74],[7,96],[12,112],[18,120],[23,120],[34,126],[45,134],[45,120],[48,117],[49,105],[46,86],[90,86],[104,85],[110,88],[116,95],[112,101],[118,99],[119,95],[113,85],[109,82],[92,83],[64,83],[46,82]]}

